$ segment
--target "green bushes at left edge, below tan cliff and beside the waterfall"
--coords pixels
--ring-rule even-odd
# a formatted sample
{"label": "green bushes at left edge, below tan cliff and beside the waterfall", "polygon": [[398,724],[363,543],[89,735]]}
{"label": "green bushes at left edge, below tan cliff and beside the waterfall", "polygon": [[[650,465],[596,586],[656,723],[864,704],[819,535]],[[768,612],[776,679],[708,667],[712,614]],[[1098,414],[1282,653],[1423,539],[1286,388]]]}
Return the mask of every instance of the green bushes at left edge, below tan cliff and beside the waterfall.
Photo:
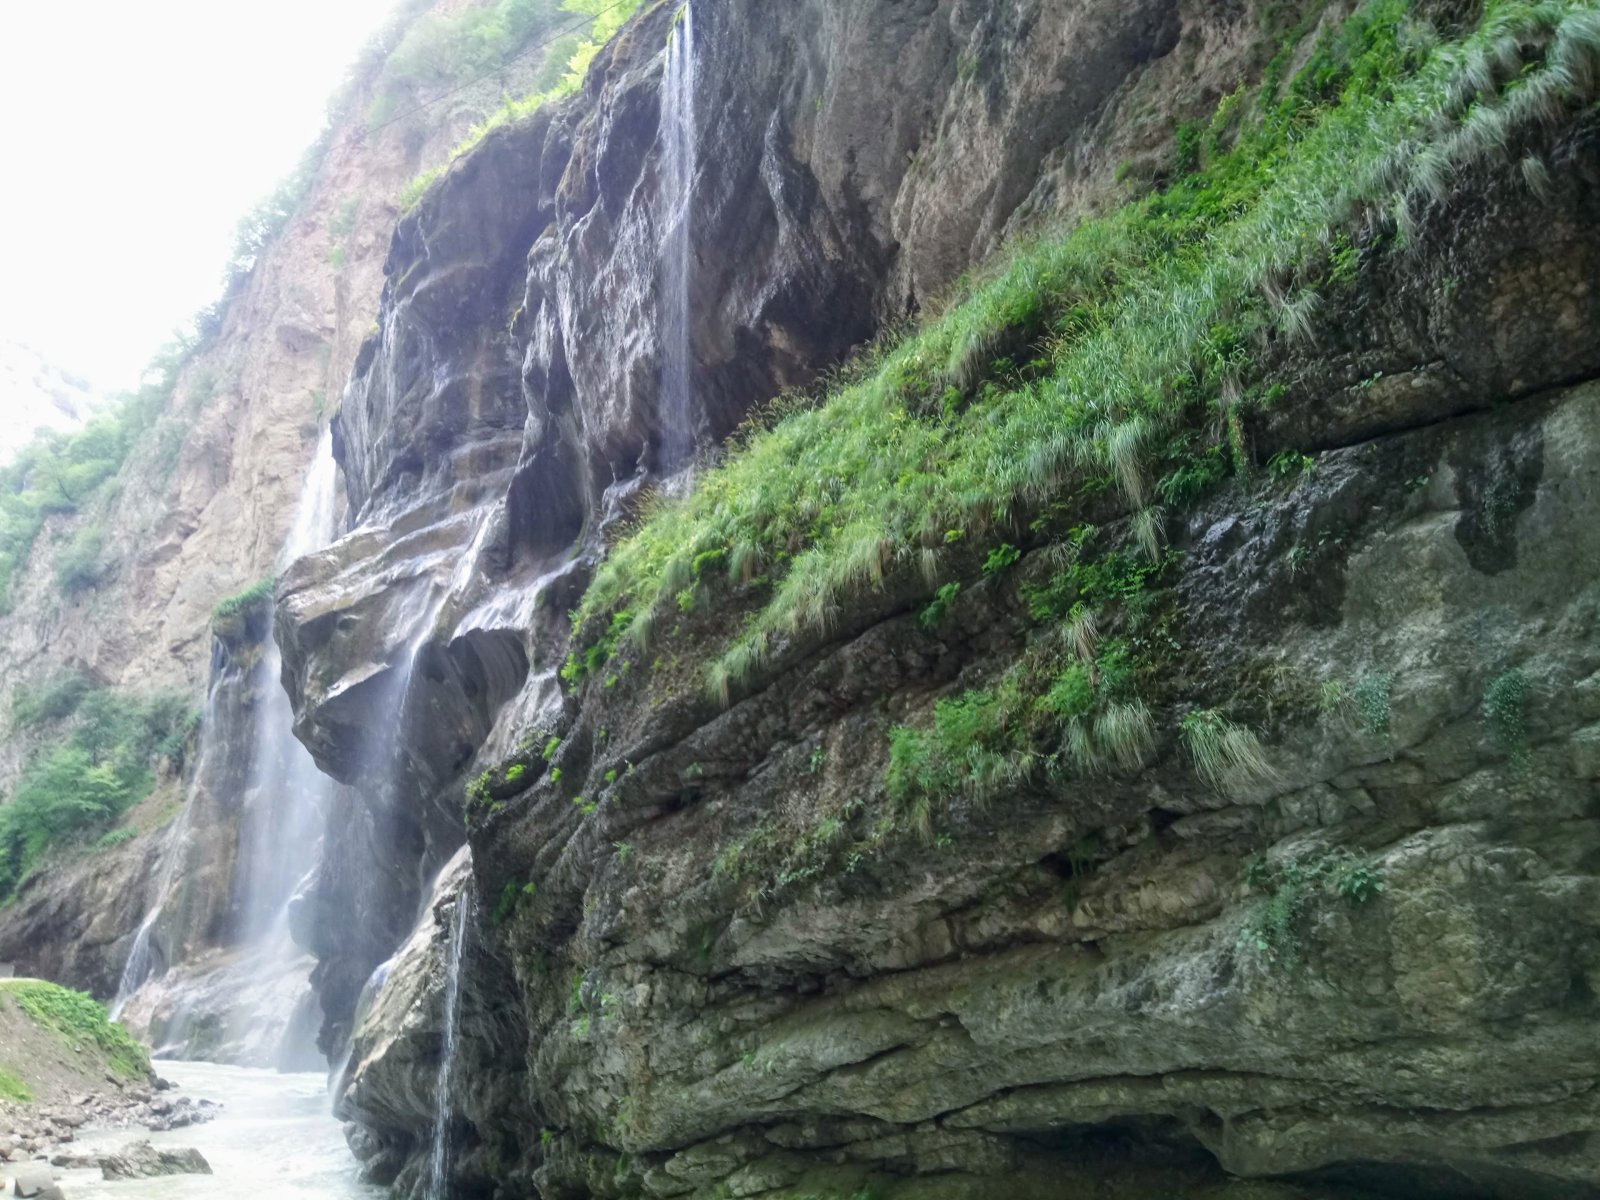
{"label": "green bushes at left edge, below tan cliff and beside the waterfall", "polygon": [[[34,696],[24,699],[26,693],[13,704],[26,706],[35,725],[70,720],[70,728],[29,760],[10,803],[0,805],[0,901],[50,848],[104,829],[149,795],[162,760],[179,773],[198,725],[198,714],[176,694],[138,698],[67,683],[64,677],[40,693],[53,701],[48,710],[59,715],[43,717],[46,709],[37,707]],[[123,834],[133,835],[115,830],[118,838]]]}

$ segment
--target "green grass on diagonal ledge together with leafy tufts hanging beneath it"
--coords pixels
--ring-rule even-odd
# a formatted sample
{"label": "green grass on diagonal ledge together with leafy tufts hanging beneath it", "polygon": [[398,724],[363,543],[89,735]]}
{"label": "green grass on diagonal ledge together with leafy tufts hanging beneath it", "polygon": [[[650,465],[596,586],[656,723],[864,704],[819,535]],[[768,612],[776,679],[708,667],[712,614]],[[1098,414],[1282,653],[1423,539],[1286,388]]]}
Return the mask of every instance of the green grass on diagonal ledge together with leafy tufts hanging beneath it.
{"label": "green grass on diagonal ledge together with leafy tufts hanging beneath it", "polygon": [[[1376,243],[1411,240],[1416,195],[1443,197],[1512,130],[1589,102],[1597,53],[1600,19],[1579,0],[1491,0],[1459,42],[1421,29],[1406,0],[1368,0],[1285,83],[1291,38],[1259,91],[1181,134],[1189,174],[1016,248],[827,397],[781,400],[690,496],[661,501],[597,573],[563,680],[581,685],[624,635],[648,642],[685,592],[722,586],[749,610],[709,670],[726,702],[781,640],[829,629],[891,573],[922,581],[931,626],[952,576],[1030,574],[1038,550],[1062,563],[1024,584],[1045,629],[997,682],[941,701],[931,728],[894,730],[891,795],[926,827],[934,797],[1141,762],[1176,650],[1155,501],[1253,480],[1246,418],[1286,395],[1267,376],[1272,341],[1307,334],[1320,293],[1349,286]],[[1384,213],[1390,232],[1357,250],[1347,230]],[[1299,456],[1275,474],[1306,469]],[[1115,539],[1082,523],[1091,506],[1128,517]],[[973,542],[994,549],[974,563]],[[707,560],[726,570],[698,573]],[[1386,694],[1360,698],[1368,723],[1387,725]],[[1179,734],[1218,787],[1272,774],[1254,733],[1216,709],[1189,712]]]}

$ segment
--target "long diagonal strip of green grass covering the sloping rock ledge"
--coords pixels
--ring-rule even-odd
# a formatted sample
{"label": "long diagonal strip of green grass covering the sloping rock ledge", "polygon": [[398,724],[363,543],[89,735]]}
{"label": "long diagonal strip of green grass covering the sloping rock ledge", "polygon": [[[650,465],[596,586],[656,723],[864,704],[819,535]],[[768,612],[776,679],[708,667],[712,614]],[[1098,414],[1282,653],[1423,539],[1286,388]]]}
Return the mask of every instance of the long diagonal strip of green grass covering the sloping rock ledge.
{"label": "long diagonal strip of green grass covering the sloping rock ledge", "polygon": [[[1144,507],[1186,419],[1251,398],[1235,389],[1282,307],[1264,290],[1296,294],[1314,282],[1296,266],[1325,264],[1342,222],[1408,211],[1410,192],[1578,96],[1571,64],[1592,64],[1600,40],[1574,2],[1494,3],[1432,48],[1408,42],[1410,16],[1402,0],[1363,5],[1234,150],[1014,251],[866,379],[749,437],[616,547],[579,635],[605,613],[666,611],[696,557],[726,550],[781,576],[722,656],[742,677],[776,635],[826,629],[848,594],[925,550],[936,581],[946,531],[1005,528],[1085,485]],[[1544,56],[1507,69],[1506,40]],[[976,390],[1018,341],[1038,349],[1032,370]]]}

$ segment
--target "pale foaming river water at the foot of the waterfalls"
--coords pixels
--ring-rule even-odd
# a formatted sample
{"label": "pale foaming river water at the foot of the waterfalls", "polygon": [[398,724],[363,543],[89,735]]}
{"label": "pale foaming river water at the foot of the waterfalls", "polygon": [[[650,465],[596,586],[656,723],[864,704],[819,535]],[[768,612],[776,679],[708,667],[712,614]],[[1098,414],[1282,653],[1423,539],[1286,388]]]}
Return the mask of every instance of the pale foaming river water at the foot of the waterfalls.
{"label": "pale foaming river water at the foot of the waterfalls", "polygon": [[170,1133],[85,1131],[78,1149],[110,1149],[139,1138],[157,1146],[192,1146],[214,1174],[106,1182],[98,1170],[64,1171],[61,1186],[69,1200],[368,1200],[384,1194],[355,1178],[355,1160],[330,1110],[323,1075],[213,1062],[157,1062],[155,1069],[182,1094],[221,1104],[216,1120]]}

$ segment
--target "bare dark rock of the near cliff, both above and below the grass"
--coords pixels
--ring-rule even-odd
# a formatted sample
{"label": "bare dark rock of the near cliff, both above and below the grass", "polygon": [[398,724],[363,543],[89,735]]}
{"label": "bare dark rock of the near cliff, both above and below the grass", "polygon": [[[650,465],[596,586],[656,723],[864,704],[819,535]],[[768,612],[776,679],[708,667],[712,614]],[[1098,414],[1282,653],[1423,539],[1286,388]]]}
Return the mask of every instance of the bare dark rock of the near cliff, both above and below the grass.
{"label": "bare dark rock of the near cliff, both above and below the grass", "polygon": [[[370,1174],[413,1192],[426,1170],[469,885],[458,859],[419,906],[419,880],[458,851],[466,781],[504,763],[472,784],[459,1195],[1600,1195],[1592,115],[1518,147],[1549,165],[1538,197],[1493,163],[1405,253],[1374,245],[1272,349],[1294,382],[1246,430],[1314,470],[1168,531],[1163,702],[1235,698],[1270,770],[1213,787],[1170,738],[1142,771],[874,838],[890,730],[1024,653],[1037,555],[971,562],[936,634],[890,581],[728,707],[688,670],[552,683],[560,613],[670,466],[675,19],[642,13],[581,98],[402,222],[339,416],[357,528],[280,592],[298,731],[354,789],[306,904],[354,914],[318,970]],[[1109,195],[1286,18],[693,19],[704,442],[1008,230]],[[738,616],[686,616],[662,658]],[[354,907],[350,866],[379,861],[416,870]]]}

